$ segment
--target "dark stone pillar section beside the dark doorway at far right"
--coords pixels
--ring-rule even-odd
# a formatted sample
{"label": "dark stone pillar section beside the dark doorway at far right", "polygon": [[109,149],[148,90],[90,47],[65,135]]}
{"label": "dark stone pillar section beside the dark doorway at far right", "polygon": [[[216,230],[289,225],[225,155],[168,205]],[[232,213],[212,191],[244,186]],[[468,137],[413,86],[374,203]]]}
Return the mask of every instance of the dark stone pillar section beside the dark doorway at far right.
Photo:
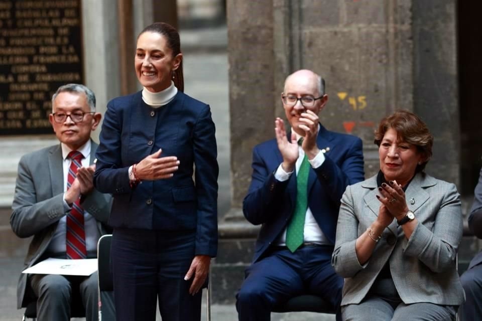
{"label": "dark stone pillar section beside the dark doorway at far right", "polygon": [[414,110],[435,137],[426,171],[459,185],[456,2],[413,1],[412,9]]}

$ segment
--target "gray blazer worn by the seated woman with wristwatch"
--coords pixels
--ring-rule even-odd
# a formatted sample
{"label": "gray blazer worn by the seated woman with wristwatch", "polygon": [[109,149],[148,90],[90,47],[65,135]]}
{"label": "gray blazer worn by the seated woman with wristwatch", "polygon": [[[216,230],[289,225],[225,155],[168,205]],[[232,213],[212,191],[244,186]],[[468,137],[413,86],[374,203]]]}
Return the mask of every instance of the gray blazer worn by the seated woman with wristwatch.
{"label": "gray blazer worn by the seated woman with wristwatch", "polygon": [[[341,305],[362,301],[388,260],[393,281],[405,303],[461,304],[464,292],[455,257],[462,238],[462,214],[455,185],[417,174],[405,193],[418,220],[410,239],[394,220],[383,231],[371,258],[361,265],[355,241],[377,218],[381,204],[377,193],[374,176],[348,186],[341,199],[332,255],[333,267],[345,278]],[[410,202],[412,198],[414,204]]]}

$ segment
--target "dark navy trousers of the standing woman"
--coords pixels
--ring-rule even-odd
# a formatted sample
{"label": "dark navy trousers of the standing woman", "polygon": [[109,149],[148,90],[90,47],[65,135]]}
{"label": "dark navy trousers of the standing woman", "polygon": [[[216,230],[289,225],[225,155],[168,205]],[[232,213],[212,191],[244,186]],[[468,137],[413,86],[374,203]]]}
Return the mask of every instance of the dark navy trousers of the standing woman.
{"label": "dark navy trousers of the standing woman", "polygon": [[116,321],[199,321],[201,295],[185,281],[195,251],[195,233],[114,229],[111,257]]}

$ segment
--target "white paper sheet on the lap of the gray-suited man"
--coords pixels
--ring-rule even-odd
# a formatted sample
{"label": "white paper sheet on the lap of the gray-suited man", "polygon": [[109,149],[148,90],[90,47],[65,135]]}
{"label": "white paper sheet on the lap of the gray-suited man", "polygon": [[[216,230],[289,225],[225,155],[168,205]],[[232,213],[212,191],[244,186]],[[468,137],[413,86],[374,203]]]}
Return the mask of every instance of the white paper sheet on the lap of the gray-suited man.
{"label": "white paper sheet on the lap of the gray-suited man", "polygon": [[97,259],[69,260],[48,258],[25,269],[22,273],[90,275],[95,271],[97,271]]}

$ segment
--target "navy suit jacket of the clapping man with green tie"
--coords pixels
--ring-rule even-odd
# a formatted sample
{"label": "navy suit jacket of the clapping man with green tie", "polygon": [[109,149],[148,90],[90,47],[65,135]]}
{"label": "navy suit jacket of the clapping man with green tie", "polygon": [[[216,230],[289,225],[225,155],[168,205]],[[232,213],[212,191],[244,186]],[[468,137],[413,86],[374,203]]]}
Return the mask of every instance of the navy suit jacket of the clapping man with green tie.
{"label": "navy suit jacket of the clapping man with green tie", "polygon": [[[291,134],[288,133],[288,137]],[[340,199],[348,185],[364,180],[362,140],[326,130],[320,124],[318,148],[329,147],[325,161],[308,176],[308,206],[328,240],[335,243]],[[252,224],[263,224],[256,241],[253,262],[263,257],[269,246],[285,230],[296,205],[296,175],[284,182],[274,173],[283,162],[276,139],[253,149],[253,175],[243,213]]]}

